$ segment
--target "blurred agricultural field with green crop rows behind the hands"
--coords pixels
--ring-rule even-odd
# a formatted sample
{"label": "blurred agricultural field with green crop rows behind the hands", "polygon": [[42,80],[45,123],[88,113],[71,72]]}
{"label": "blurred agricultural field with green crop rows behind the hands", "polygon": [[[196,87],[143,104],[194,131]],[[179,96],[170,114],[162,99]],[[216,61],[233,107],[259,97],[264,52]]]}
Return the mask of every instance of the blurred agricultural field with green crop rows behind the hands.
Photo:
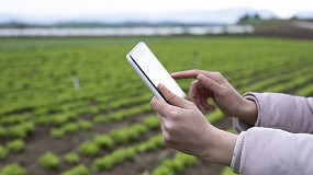
{"label": "blurred agricultural field with green crop rows behind the hands", "polygon": [[[152,93],[125,55],[144,40],[169,72],[220,71],[239,91],[313,95],[313,42],[260,37],[0,39],[1,175],[226,175],[163,145]],[[188,93],[191,80],[178,83]],[[230,130],[220,110],[206,115]]]}

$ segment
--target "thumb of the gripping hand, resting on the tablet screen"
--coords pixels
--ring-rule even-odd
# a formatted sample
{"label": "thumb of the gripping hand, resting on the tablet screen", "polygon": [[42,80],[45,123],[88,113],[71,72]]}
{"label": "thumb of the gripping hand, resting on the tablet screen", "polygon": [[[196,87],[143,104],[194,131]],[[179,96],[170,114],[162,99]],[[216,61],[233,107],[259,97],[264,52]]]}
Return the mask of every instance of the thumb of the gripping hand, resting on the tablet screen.
{"label": "thumb of the gripping hand, resting on the tablet screen", "polygon": [[174,94],[172,92],[170,92],[164,84],[159,84],[158,85],[158,90],[160,91],[160,93],[163,94],[163,96],[166,98],[166,101],[174,105],[174,106],[178,106],[178,107],[182,107],[182,108],[190,108],[191,107],[191,102],[177,96],[176,94]]}

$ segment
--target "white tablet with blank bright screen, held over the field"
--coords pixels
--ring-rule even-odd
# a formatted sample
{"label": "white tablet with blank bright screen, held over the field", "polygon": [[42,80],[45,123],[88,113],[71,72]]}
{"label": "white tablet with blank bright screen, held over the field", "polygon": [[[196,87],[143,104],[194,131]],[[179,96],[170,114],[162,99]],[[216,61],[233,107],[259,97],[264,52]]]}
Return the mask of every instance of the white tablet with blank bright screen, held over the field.
{"label": "white tablet with blank bright screen, held over the field", "polygon": [[186,98],[183,91],[170,77],[168,71],[164,68],[164,66],[159,62],[145,43],[138,43],[126,55],[126,59],[157,98],[167,102],[161,93],[159,93],[157,90],[157,86],[160,83],[177,96]]}

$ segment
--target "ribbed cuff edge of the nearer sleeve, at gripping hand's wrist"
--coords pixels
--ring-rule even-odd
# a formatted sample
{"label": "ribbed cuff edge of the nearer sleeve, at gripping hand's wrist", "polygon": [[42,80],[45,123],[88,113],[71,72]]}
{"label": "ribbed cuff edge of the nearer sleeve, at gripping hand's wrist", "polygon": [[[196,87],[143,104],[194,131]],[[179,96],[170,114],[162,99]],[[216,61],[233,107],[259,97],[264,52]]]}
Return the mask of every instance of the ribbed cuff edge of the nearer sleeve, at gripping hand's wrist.
{"label": "ribbed cuff edge of the nearer sleeve, at gripping hand's wrist", "polygon": [[237,142],[235,144],[232,163],[231,163],[231,167],[234,173],[239,173],[239,170],[241,170],[244,138],[245,138],[245,131],[241,132],[241,135],[237,138]]}

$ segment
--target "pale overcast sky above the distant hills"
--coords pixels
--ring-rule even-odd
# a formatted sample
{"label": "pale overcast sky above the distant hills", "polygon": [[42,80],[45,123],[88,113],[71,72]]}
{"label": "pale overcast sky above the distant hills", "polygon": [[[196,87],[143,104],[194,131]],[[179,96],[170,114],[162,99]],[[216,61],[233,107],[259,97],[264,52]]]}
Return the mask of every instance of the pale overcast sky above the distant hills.
{"label": "pale overcast sky above the distant hills", "polygon": [[0,0],[1,14],[77,18],[86,14],[215,11],[230,8],[269,10],[279,18],[313,11],[313,0]]}

